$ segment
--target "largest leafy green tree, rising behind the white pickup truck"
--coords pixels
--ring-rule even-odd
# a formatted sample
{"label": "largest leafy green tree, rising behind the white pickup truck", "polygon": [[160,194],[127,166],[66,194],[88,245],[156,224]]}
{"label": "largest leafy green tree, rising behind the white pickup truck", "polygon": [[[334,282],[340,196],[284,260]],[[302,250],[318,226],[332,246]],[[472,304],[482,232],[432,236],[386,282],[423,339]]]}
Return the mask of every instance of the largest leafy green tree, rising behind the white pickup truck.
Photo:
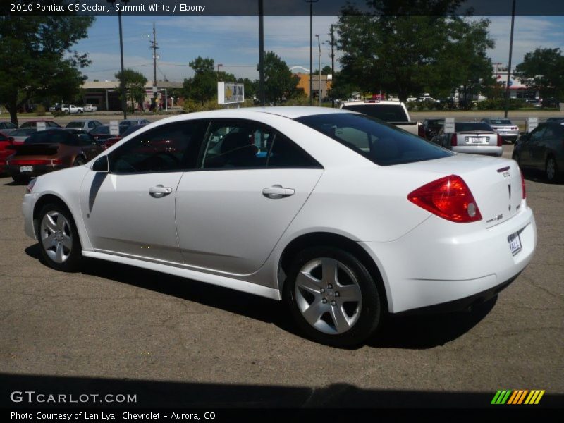
{"label": "largest leafy green tree, rising behind the white pickup truck", "polygon": [[[361,13],[343,8],[337,32],[340,81],[361,92],[450,94],[461,85],[477,90],[491,75],[488,20],[448,15],[462,0],[369,1]],[[476,63],[476,61],[478,63]]]}

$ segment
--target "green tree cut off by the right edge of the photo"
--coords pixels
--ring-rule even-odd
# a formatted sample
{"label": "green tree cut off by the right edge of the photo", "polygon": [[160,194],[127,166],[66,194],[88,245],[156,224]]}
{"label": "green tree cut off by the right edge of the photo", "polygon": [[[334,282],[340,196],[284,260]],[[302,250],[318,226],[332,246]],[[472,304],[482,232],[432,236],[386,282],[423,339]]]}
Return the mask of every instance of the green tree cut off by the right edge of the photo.
{"label": "green tree cut off by the right edge of the photo", "polygon": [[541,97],[564,98],[564,56],[560,49],[539,47],[529,51],[515,67],[515,75],[527,87],[539,90]]}

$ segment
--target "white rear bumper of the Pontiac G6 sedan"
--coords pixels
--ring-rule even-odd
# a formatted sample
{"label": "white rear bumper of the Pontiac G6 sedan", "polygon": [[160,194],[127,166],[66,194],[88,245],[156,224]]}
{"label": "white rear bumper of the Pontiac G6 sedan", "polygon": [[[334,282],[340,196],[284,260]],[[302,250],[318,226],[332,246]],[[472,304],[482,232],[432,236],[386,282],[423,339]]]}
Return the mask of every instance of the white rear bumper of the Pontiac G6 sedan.
{"label": "white rear bumper of the Pontiac G6 sedan", "polygon": [[[516,255],[508,243],[513,233],[522,245]],[[391,243],[360,245],[379,266],[390,312],[449,302],[446,308],[463,309],[525,269],[537,245],[537,227],[528,207],[491,228],[483,221],[460,224],[431,216]]]}

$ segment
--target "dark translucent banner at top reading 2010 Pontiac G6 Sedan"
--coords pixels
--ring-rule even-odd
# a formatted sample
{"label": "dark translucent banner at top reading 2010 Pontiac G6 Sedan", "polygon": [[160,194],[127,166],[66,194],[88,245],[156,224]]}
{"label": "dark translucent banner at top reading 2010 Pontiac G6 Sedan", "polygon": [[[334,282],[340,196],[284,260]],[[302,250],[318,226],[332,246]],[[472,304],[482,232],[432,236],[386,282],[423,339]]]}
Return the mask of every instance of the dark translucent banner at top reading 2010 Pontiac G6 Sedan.
{"label": "dark translucent banner at top reading 2010 Pontiac G6 Sedan", "polygon": [[[337,16],[353,6],[355,13],[372,15],[511,15],[512,0],[3,0],[1,14],[111,16]],[[564,16],[561,0],[516,0],[520,16]]]}

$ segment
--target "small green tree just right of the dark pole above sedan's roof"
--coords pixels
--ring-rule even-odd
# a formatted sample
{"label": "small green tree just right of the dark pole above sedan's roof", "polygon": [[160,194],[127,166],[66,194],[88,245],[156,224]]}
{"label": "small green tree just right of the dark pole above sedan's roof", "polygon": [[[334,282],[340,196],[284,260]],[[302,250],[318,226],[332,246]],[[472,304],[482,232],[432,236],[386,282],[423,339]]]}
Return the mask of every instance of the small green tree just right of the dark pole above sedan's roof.
{"label": "small green tree just right of the dark pole above sedan's roof", "polygon": [[284,98],[290,99],[297,96],[299,81],[300,77],[293,75],[286,62],[274,51],[267,51],[264,54],[264,97],[266,97],[266,102],[278,104]]}

